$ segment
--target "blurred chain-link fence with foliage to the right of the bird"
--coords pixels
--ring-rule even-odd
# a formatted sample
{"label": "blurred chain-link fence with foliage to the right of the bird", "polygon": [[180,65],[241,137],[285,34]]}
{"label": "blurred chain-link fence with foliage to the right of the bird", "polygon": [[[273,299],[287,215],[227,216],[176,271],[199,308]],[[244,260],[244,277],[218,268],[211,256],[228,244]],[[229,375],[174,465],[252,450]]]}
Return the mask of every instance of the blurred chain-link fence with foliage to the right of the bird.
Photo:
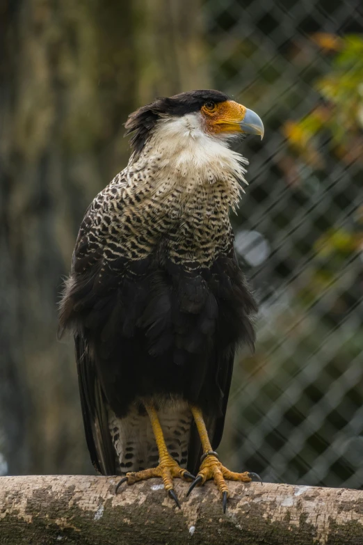
{"label": "blurred chain-link fence with foliage to the right of the bird", "polygon": [[363,483],[363,8],[208,0],[216,88],[259,113],[236,250],[260,302],[223,445],[264,480]]}

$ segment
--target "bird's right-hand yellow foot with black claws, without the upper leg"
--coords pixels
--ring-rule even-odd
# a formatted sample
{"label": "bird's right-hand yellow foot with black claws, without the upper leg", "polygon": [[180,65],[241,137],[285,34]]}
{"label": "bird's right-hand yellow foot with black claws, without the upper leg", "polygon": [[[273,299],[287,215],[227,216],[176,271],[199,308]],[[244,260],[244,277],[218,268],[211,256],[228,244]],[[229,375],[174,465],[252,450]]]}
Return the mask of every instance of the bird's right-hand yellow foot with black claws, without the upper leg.
{"label": "bird's right-hand yellow foot with black claws, without the upper leg", "polygon": [[187,496],[191,493],[193,488],[197,484],[204,484],[207,480],[213,479],[216,483],[218,490],[222,496],[223,500],[223,512],[227,508],[227,498],[229,496],[229,491],[225,480],[229,481],[241,481],[241,482],[251,482],[252,477],[256,477],[260,482],[261,479],[257,473],[249,473],[245,471],[244,473],[234,473],[234,471],[229,471],[229,469],[223,466],[219,459],[217,452],[209,450],[202,455],[202,464],[200,464],[200,470],[195,477],[195,480],[192,482],[191,486],[188,489]]}

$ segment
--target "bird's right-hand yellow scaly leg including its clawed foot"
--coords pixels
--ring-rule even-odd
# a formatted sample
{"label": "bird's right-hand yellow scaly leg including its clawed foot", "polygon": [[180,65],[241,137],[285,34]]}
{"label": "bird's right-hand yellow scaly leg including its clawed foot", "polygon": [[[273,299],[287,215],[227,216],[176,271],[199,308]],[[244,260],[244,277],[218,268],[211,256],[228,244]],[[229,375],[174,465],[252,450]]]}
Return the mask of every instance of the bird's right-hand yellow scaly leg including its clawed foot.
{"label": "bird's right-hand yellow scaly leg including its clawed foot", "polygon": [[227,498],[229,496],[225,479],[241,482],[250,482],[252,481],[252,477],[257,477],[257,479],[260,481],[261,479],[257,473],[249,473],[248,471],[245,471],[244,473],[234,473],[233,471],[229,471],[229,469],[225,468],[225,466],[220,463],[217,452],[214,452],[211,448],[211,442],[209,441],[207,428],[204,424],[202,411],[196,406],[191,406],[191,411],[193,413],[195,425],[197,426],[198,434],[200,436],[200,442],[202,443],[203,455],[201,458],[200,470],[197,477],[195,477],[195,481],[189,487],[186,495],[189,496],[197,484],[204,484],[204,482],[207,480],[213,479],[218,487],[218,490],[222,494],[223,512],[225,513],[227,508]]}

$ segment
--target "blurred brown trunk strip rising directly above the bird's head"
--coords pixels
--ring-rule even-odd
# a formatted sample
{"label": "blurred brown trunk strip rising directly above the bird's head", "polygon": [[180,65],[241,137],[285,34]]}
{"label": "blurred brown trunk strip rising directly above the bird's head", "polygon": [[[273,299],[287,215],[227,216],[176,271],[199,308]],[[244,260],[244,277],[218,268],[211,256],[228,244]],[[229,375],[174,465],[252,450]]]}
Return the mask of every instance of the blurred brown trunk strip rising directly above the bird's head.
{"label": "blurred brown trunk strip rising directly above the bird's head", "polygon": [[134,0],[138,103],[209,88],[201,0]]}

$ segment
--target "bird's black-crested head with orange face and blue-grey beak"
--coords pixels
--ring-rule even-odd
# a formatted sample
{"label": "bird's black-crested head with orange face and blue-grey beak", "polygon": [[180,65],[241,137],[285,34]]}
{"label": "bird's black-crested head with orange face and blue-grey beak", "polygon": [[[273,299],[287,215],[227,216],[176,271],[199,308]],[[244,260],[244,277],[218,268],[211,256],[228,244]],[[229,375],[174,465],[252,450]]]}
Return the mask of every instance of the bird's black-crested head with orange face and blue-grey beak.
{"label": "bird's black-crested head with orange face and blue-grey beak", "polygon": [[167,126],[166,122],[176,122],[174,126],[180,134],[201,134],[214,142],[222,143],[243,134],[264,136],[264,125],[254,111],[220,91],[193,90],[159,97],[131,113],[125,127],[127,134],[132,134],[131,145],[136,154],[156,129]]}

